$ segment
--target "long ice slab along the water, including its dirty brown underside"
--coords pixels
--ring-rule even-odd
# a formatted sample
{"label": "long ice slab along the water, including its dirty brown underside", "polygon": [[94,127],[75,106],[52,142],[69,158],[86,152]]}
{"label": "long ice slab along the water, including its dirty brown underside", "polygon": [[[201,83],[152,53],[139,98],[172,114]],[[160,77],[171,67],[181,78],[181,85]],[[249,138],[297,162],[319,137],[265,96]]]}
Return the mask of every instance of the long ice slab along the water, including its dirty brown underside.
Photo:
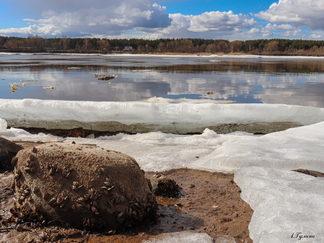
{"label": "long ice slab along the water, including its dirty brown underside", "polygon": [[[160,102],[162,98],[155,99]],[[202,132],[206,127],[219,132],[219,124],[222,124],[221,127],[231,124],[232,128],[227,132],[232,132],[237,131],[242,124],[260,126],[255,125],[256,122],[291,122],[294,124],[288,127],[296,127],[324,120],[324,109],[317,107],[283,104],[172,103],[168,99],[165,99],[165,102],[0,99],[0,117],[6,119],[12,127],[83,127],[96,131],[162,131],[180,134]],[[240,129],[248,131],[246,129],[249,126]],[[267,127],[268,124],[263,126]],[[263,133],[268,132],[273,130]]]}

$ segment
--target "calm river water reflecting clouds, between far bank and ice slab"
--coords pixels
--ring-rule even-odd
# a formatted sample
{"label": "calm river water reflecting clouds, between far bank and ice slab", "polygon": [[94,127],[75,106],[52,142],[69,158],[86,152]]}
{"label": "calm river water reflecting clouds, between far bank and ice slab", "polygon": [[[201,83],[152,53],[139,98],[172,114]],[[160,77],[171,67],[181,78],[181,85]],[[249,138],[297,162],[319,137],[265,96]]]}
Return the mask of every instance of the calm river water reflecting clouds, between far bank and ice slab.
{"label": "calm river water reflecting clouds, between far bank and ice slab", "polygon": [[[138,101],[156,96],[324,107],[323,71],[324,58],[0,53],[0,98]],[[95,74],[119,77],[101,81]],[[38,81],[12,92],[9,83],[26,82],[20,80]],[[48,86],[55,89],[43,89]]]}

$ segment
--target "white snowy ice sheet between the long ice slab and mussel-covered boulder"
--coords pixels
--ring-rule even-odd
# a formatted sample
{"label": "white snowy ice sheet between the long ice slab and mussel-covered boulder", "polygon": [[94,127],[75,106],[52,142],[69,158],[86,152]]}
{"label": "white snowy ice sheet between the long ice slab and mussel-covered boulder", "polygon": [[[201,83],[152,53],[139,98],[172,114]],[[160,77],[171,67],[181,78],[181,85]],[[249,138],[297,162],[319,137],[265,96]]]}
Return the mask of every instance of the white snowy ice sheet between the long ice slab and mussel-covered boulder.
{"label": "white snowy ice sheet between the long ice slab and mussel-covered boulder", "polygon": [[146,171],[193,168],[234,172],[241,167],[263,166],[324,172],[324,122],[263,136],[245,132],[217,134],[205,129],[200,135],[119,133],[99,138],[64,139],[42,133],[31,135],[14,128],[2,136],[11,141],[96,144],[132,156]]}

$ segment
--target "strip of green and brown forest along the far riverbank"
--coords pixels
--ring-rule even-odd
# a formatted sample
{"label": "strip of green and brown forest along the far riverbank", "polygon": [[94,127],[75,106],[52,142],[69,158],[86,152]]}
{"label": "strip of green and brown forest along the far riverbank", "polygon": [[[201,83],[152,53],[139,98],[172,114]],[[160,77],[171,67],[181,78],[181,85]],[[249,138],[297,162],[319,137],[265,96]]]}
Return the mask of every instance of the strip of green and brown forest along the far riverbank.
{"label": "strip of green and brown forest along the far riverbank", "polygon": [[118,53],[123,52],[122,50],[126,46],[133,48],[132,53],[324,55],[323,40],[258,39],[228,41],[200,38],[145,40],[135,38],[68,38],[65,35],[43,38],[37,34],[29,35],[27,38],[0,36],[0,50],[2,52]]}

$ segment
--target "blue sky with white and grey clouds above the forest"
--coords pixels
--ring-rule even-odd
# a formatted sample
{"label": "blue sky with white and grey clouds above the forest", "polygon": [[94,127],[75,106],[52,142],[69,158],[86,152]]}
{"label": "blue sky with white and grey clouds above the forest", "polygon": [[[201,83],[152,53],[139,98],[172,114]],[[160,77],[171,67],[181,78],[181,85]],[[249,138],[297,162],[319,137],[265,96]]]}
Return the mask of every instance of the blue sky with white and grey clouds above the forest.
{"label": "blue sky with white and grey clouds above the forest", "polygon": [[324,38],[324,0],[0,0],[0,35]]}

